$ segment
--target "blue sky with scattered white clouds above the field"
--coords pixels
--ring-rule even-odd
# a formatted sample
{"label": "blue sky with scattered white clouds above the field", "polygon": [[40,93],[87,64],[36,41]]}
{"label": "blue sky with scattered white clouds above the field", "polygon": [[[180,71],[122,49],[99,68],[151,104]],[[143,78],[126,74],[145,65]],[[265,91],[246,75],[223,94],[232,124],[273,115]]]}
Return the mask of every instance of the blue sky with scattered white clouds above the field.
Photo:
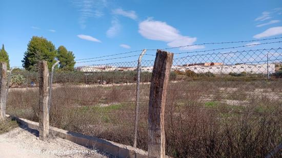
{"label": "blue sky with scattered white clouds above the field", "polygon": [[[0,44],[11,66],[21,66],[32,36],[63,45],[75,59],[143,49],[164,49],[207,42],[282,37],[282,1],[49,0],[0,1]],[[279,41],[282,39],[276,39]],[[272,40],[273,41],[273,40]],[[267,41],[207,44],[171,49],[173,53],[248,46],[240,50],[279,48]],[[271,42],[271,41],[270,41]],[[225,51],[240,51],[227,49]],[[140,52],[103,61],[78,60],[76,66],[137,60]],[[155,51],[147,51],[154,54]],[[109,59],[114,57],[104,57]],[[101,58],[98,58],[101,59]],[[151,59],[150,56],[145,59]],[[79,61],[91,61],[79,63]]]}

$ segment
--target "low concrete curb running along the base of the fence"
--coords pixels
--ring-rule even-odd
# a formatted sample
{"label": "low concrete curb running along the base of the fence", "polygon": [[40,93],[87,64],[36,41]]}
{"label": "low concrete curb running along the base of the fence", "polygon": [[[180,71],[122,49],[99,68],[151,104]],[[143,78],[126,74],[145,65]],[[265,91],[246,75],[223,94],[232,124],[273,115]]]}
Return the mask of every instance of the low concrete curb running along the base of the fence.
{"label": "low concrete curb running along the base of the fence", "polygon": [[[33,122],[27,119],[12,117],[6,115],[7,117],[14,119],[28,128],[39,129],[38,122]],[[54,133],[57,137],[69,140],[76,144],[88,147],[95,148],[99,151],[103,151],[107,154],[110,154],[111,157],[130,157],[130,158],[139,158],[139,157],[148,157],[148,152],[142,149],[134,148],[132,146],[123,145],[103,139],[98,139],[95,137],[85,136],[83,134],[59,129],[56,127],[50,126],[50,132]]]}

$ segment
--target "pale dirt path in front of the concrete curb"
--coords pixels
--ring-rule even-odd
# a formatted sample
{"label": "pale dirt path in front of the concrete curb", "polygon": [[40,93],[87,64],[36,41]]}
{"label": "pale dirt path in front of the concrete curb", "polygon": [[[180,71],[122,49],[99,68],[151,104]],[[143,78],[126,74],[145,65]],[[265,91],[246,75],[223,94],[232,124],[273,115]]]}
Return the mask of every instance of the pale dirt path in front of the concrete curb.
{"label": "pale dirt path in front of the concrete curb", "polygon": [[68,140],[50,136],[41,141],[36,136],[38,131],[20,127],[0,134],[0,157],[106,157]]}

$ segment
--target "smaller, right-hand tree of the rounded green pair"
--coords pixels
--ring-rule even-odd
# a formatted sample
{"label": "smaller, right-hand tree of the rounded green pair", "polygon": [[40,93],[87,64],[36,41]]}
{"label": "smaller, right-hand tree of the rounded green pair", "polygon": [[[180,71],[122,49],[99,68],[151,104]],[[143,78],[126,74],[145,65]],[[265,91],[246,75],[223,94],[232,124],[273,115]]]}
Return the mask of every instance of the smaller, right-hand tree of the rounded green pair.
{"label": "smaller, right-hand tree of the rounded green pair", "polygon": [[64,46],[60,46],[57,52],[57,58],[60,61],[59,68],[62,70],[73,71],[75,64],[74,54],[71,51],[68,51]]}

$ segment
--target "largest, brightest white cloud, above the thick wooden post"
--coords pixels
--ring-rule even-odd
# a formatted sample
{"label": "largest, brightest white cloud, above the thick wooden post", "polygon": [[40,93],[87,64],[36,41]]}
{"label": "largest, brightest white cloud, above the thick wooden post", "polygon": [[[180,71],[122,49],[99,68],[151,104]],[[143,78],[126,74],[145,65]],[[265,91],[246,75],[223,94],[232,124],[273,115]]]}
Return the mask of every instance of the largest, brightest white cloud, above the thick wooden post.
{"label": "largest, brightest white cloud, above the thick wooden post", "polygon": [[[169,47],[179,47],[192,45],[197,38],[183,36],[177,29],[168,25],[166,22],[156,21],[152,18],[148,18],[139,23],[138,32],[147,39],[160,40],[168,42]],[[189,46],[179,48],[180,50],[194,50],[203,49],[204,46]]]}

